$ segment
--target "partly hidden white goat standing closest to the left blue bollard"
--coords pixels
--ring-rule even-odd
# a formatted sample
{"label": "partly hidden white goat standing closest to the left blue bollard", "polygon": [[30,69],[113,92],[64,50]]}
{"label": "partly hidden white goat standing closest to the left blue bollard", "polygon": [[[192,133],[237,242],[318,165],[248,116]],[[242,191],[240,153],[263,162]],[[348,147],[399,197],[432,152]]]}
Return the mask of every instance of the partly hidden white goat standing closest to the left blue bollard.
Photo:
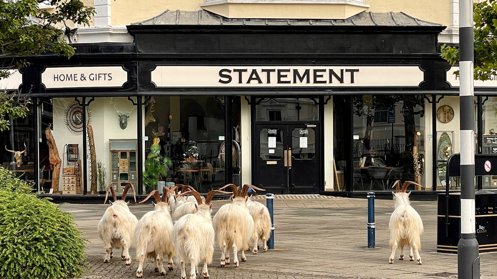
{"label": "partly hidden white goat standing closest to the left blue bollard", "polygon": [[267,207],[262,203],[252,201],[248,198],[246,206],[252,219],[254,219],[254,249],[252,252],[257,254],[259,251],[259,239],[262,240],[262,251],[267,251],[267,240],[271,236],[271,216]]}

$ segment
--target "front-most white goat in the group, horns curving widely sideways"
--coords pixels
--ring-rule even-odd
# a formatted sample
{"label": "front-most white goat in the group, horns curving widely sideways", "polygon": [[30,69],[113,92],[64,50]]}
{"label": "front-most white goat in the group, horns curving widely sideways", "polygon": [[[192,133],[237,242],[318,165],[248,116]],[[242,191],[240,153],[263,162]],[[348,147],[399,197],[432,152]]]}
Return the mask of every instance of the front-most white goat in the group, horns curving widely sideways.
{"label": "front-most white goat in the group, horns curving widely sideways", "polygon": [[207,265],[212,262],[214,254],[214,228],[212,227],[212,197],[216,193],[231,194],[220,190],[213,190],[207,194],[205,203],[200,194],[195,191],[183,192],[181,195],[191,194],[197,199],[196,212],[182,216],[173,227],[173,238],[177,249],[177,259],[181,265],[181,278],[186,278],[185,263],[190,261],[190,279],[197,277],[197,266],[204,262],[202,275],[209,278]]}

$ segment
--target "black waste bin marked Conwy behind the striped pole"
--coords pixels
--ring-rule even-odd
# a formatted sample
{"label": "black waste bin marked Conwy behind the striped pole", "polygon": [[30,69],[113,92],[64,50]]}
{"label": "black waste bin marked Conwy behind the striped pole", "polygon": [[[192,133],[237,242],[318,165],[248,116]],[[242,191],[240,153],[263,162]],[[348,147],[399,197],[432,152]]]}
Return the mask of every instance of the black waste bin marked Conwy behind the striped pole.
{"label": "black waste bin marked Conwy behind the striped pole", "polygon": [[[449,217],[446,226],[446,194],[438,194],[436,252],[457,254],[461,232],[461,193],[449,194]],[[476,239],[480,253],[497,251],[497,192],[475,193]]]}

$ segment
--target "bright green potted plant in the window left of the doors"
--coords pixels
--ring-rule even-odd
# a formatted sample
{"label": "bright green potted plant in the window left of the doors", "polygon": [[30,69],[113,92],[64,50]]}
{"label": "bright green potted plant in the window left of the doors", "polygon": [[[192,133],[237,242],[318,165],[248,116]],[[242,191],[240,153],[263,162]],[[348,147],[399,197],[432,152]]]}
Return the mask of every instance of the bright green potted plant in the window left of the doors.
{"label": "bright green potted plant in the window left of the doors", "polygon": [[159,144],[152,144],[145,161],[145,171],[143,172],[143,183],[147,185],[147,193],[157,190],[157,182],[165,180],[171,165],[171,159],[160,154]]}

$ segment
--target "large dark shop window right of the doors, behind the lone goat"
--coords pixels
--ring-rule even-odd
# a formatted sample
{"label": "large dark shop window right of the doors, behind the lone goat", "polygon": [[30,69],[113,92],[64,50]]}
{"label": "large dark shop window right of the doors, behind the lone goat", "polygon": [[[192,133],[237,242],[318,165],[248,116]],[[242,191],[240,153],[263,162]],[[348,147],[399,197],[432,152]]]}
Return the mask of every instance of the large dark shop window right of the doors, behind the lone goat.
{"label": "large dark shop window right of the doors, behind the lone goat", "polygon": [[425,157],[422,96],[355,96],[353,112],[354,190],[390,190],[396,180],[423,185],[409,190],[431,190],[419,164]]}

